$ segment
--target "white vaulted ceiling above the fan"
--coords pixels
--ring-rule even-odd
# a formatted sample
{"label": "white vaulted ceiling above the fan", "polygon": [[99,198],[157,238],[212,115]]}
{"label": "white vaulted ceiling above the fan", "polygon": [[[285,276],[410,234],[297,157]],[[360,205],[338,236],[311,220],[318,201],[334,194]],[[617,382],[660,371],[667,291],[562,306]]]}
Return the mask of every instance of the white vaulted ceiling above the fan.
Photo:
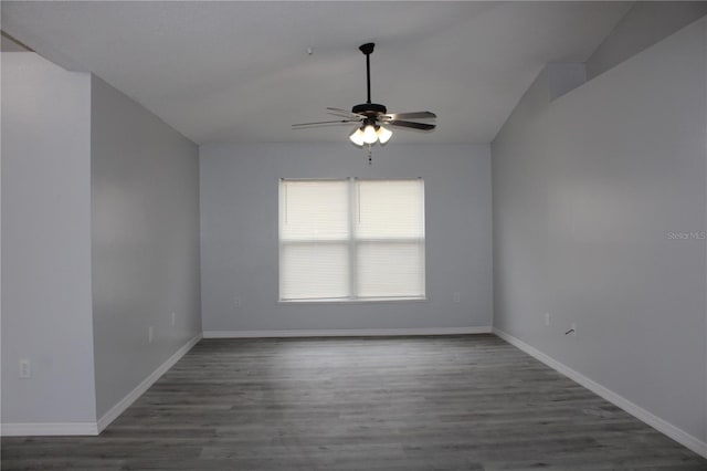
{"label": "white vaulted ceiling above the fan", "polygon": [[[630,2],[3,1],[2,30],[198,144],[337,142],[326,107],[432,111],[395,142],[488,143],[548,62],[584,62]],[[307,54],[307,48],[314,53]]]}

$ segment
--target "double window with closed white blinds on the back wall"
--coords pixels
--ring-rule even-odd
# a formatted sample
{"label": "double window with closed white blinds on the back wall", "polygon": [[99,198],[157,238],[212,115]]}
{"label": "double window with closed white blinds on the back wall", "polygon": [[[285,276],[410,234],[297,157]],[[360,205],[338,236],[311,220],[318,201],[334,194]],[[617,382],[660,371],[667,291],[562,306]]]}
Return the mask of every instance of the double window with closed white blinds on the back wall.
{"label": "double window with closed white blinds on the back wall", "polygon": [[424,299],[424,182],[281,180],[279,299]]}

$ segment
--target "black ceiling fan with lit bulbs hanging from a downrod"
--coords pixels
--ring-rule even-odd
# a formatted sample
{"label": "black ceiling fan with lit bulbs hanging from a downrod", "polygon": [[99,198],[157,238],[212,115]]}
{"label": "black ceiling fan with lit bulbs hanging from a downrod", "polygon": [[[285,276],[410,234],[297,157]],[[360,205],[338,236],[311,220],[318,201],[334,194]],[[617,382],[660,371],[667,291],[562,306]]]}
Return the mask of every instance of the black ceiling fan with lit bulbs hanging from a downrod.
{"label": "black ceiling fan with lit bulbs hanging from a downrod", "polygon": [[369,42],[359,48],[359,50],[366,55],[366,84],[368,90],[368,100],[366,101],[366,103],[354,106],[350,112],[340,108],[327,108],[327,113],[336,116],[341,116],[344,119],[299,123],[293,124],[292,127],[297,129],[335,124],[356,124],[356,129],[354,129],[354,133],[349,136],[349,138],[357,146],[363,146],[367,144],[369,146],[369,150],[371,144],[374,144],[377,140],[380,142],[380,144],[386,144],[392,136],[392,133],[383,127],[383,125],[419,130],[434,129],[434,124],[408,121],[434,119],[437,117],[434,113],[388,113],[386,106],[378,103],[371,103],[370,59],[374,46],[374,43]]}

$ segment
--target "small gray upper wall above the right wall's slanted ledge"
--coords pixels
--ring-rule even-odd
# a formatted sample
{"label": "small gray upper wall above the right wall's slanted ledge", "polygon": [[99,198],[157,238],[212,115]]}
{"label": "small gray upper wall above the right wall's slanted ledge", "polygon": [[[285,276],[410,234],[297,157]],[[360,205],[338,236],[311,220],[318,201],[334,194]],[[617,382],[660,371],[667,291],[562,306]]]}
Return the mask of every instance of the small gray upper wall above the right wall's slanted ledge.
{"label": "small gray upper wall above the right wall's slanted ledge", "polygon": [[589,78],[707,14],[707,1],[637,1],[587,61]]}

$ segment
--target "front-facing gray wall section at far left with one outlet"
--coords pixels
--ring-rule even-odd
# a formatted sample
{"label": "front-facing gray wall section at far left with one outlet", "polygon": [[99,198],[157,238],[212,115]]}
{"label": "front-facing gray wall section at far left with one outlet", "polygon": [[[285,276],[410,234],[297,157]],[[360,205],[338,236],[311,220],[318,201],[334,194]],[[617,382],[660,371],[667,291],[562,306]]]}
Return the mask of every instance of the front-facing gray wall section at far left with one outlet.
{"label": "front-facing gray wall section at far left with one outlet", "polygon": [[95,422],[91,78],[34,53],[1,60],[2,422]]}

